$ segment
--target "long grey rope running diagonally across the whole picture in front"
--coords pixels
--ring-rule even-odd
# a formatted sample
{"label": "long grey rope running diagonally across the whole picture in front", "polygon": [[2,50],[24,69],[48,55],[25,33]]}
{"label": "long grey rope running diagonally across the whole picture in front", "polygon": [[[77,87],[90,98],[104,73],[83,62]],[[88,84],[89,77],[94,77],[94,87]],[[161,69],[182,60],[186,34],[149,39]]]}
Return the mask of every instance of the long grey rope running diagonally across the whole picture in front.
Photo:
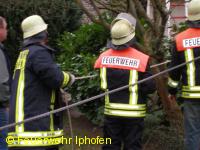
{"label": "long grey rope running diagonally across the whole picture in front", "polygon": [[177,68],[180,68],[180,67],[182,67],[182,66],[184,66],[184,65],[186,65],[186,64],[188,64],[188,63],[191,63],[191,62],[193,62],[193,61],[196,61],[196,60],[198,60],[198,59],[200,59],[200,56],[199,56],[199,57],[196,57],[196,58],[194,58],[193,60],[190,60],[190,61],[188,61],[188,62],[184,62],[184,63],[179,64],[179,65],[177,65],[177,66],[174,66],[174,67],[172,67],[172,68],[169,68],[169,69],[166,69],[166,70],[164,70],[164,71],[161,71],[161,72],[159,72],[159,73],[157,73],[157,74],[154,74],[154,75],[152,75],[152,76],[150,76],[150,77],[148,77],[148,78],[142,79],[142,80],[140,80],[140,81],[138,81],[138,82],[136,82],[136,83],[134,83],[134,84],[125,85],[125,86],[122,86],[122,87],[113,89],[113,90],[111,90],[111,91],[109,91],[109,92],[105,92],[105,93],[102,93],[102,94],[99,94],[99,95],[90,97],[90,98],[88,98],[88,99],[84,99],[84,100],[82,100],[82,101],[79,101],[79,102],[77,102],[77,103],[71,104],[71,105],[69,105],[69,106],[61,107],[61,108],[55,109],[55,110],[53,110],[53,111],[49,111],[49,112],[46,112],[46,113],[43,113],[43,114],[40,114],[40,115],[36,115],[36,116],[30,117],[30,118],[28,118],[28,119],[25,119],[25,120],[20,121],[20,122],[17,122],[17,123],[11,123],[11,124],[2,126],[2,127],[0,127],[0,131],[3,130],[3,129],[6,129],[6,128],[11,128],[11,127],[14,127],[14,126],[16,126],[16,125],[20,125],[20,124],[22,124],[22,123],[27,123],[27,122],[31,122],[31,121],[34,121],[34,120],[37,120],[37,119],[41,119],[41,118],[47,117],[47,116],[49,116],[50,114],[55,114],[55,113],[58,113],[58,112],[62,112],[62,111],[64,111],[64,110],[66,110],[66,109],[70,109],[70,108],[75,107],[75,106],[79,106],[79,105],[85,104],[85,103],[87,103],[87,102],[90,102],[90,101],[93,101],[93,100],[95,100],[95,99],[101,98],[101,97],[103,97],[103,96],[105,96],[105,95],[112,94],[112,93],[116,93],[116,92],[118,92],[118,91],[121,91],[121,90],[124,90],[124,89],[126,89],[126,88],[129,88],[129,86],[134,86],[134,85],[136,85],[136,84],[141,84],[141,83],[143,83],[143,82],[146,82],[146,81],[148,81],[148,80],[154,79],[154,78],[156,78],[156,77],[158,77],[158,76],[160,76],[160,75],[163,75],[163,74],[165,74],[165,73],[167,73],[167,72],[170,72],[170,71],[172,71],[172,70],[175,70],[175,69],[177,69]]}

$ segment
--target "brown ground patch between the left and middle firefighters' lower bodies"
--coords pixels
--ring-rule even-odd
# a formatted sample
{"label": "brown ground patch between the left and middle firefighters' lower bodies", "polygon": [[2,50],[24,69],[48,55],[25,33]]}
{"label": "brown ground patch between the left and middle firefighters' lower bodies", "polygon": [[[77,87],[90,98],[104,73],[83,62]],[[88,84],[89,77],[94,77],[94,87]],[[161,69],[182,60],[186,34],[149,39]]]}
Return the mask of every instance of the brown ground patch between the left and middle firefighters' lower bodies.
{"label": "brown ground patch between the left and middle firefighters' lower bodies", "polygon": [[[68,119],[65,122],[66,137],[64,147],[62,150],[70,150],[72,149],[72,141],[74,142],[73,150],[101,150],[101,144],[94,144],[95,140],[98,138],[102,138],[102,129],[98,126],[93,125],[83,114],[77,111],[77,109],[72,109],[70,111],[71,119],[72,119],[72,127],[73,127],[73,135],[74,138],[70,140],[70,128]],[[67,112],[65,112],[67,116]],[[68,117],[67,117],[68,118]],[[90,141],[90,139],[92,139]],[[96,140],[97,141],[97,140]],[[93,144],[89,143],[93,142]]]}

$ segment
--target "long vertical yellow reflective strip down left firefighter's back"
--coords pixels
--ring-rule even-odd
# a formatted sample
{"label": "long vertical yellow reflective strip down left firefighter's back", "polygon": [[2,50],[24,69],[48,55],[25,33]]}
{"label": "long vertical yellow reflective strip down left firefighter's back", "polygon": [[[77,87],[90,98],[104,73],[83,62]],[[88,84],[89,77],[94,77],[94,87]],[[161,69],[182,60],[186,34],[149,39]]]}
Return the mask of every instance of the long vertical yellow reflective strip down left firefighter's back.
{"label": "long vertical yellow reflective strip down left firefighter's back", "polygon": [[[25,85],[25,66],[26,59],[29,50],[24,50],[20,52],[19,57],[17,59],[17,63],[15,65],[15,71],[19,70],[19,80],[17,87],[17,95],[16,95],[16,109],[15,109],[15,122],[21,122],[24,120],[24,85]],[[24,131],[24,124],[15,126],[16,132]]]}

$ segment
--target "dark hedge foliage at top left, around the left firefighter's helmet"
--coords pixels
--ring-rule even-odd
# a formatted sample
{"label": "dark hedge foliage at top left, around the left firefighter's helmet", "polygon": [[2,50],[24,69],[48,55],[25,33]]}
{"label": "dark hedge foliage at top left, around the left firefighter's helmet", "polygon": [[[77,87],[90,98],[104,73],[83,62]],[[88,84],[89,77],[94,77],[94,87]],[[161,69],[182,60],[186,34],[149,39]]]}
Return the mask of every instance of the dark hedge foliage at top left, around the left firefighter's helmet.
{"label": "dark hedge foliage at top left, around the left firefighter's helmet", "polygon": [[34,14],[41,15],[49,25],[49,42],[56,48],[55,41],[60,34],[80,26],[82,12],[73,0],[0,0],[0,14],[8,22],[9,32],[5,46],[13,66],[22,41],[20,25],[24,18]]}

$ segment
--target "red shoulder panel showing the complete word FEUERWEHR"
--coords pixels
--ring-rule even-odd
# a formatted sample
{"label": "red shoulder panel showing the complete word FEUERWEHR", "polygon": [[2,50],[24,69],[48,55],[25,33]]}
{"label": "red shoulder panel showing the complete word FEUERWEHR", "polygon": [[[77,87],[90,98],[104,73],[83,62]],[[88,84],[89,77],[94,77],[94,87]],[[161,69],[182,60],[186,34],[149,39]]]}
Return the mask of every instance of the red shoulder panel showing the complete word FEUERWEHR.
{"label": "red shoulder panel showing the complete word FEUERWEHR", "polygon": [[96,60],[94,68],[106,67],[144,72],[148,59],[148,55],[131,47],[120,51],[108,49]]}

